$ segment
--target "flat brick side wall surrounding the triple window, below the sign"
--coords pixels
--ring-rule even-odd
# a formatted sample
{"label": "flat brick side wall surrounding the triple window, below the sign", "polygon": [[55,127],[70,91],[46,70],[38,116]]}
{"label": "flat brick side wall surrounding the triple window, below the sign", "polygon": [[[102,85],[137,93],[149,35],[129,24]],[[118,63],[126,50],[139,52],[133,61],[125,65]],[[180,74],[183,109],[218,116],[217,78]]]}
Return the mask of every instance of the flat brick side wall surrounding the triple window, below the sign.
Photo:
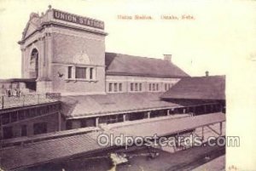
{"label": "flat brick side wall surrounding the triple window, below the sign", "polygon": [[[74,36],[73,31],[53,34],[52,86],[53,92],[62,94],[99,94],[105,92],[105,42],[104,37],[90,33]],[[79,63],[75,56],[86,55],[89,63]],[[67,80],[67,66],[93,66],[96,80]],[[60,77],[60,73],[63,74]]]}

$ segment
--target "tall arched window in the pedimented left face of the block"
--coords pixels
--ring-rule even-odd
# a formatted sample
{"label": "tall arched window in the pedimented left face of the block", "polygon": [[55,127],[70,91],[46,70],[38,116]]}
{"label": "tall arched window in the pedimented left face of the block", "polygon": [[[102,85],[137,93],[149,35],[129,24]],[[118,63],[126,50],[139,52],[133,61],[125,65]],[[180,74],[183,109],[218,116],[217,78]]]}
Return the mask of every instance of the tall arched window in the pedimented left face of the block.
{"label": "tall arched window in the pedimented left face of the block", "polygon": [[33,48],[30,57],[30,77],[38,77],[38,49]]}

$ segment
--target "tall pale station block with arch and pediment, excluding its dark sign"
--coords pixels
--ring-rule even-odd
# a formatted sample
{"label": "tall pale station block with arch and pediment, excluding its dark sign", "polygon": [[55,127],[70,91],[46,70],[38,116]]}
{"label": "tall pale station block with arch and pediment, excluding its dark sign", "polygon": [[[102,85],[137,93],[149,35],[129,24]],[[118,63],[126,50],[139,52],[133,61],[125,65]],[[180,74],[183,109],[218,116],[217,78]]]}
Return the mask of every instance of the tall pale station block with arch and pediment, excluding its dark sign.
{"label": "tall pale station block with arch and pediment, excluding its dark sign", "polygon": [[[54,15],[55,9],[41,16],[31,14],[19,42],[22,77],[37,78],[38,93],[104,93],[107,34],[101,28],[57,20]],[[81,74],[85,70],[86,76]],[[68,77],[71,72],[73,77]]]}

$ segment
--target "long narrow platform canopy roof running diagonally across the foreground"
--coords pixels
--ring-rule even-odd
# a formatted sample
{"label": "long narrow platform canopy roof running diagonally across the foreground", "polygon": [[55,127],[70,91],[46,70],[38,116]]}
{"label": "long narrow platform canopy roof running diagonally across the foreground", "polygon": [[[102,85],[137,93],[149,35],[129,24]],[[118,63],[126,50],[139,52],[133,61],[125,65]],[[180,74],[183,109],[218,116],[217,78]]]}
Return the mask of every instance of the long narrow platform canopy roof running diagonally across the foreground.
{"label": "long narrow platform canopy roof running diagonally across the foreground", "polygon": [[164,118],[159,121],[131,123],[128,126],[113,127],[109,130],[3,148],[0,149],[0,163],[4,170],[13,170],[106,150],[110,147],[109,145],[101,146],[97,143],[99,134],[113,134],[114,137],[120,134],[128,136],[153,136],[157,134],[157,136],[164,136],[224,121],[225,115],[223,113],[214,113],[196,117]]}

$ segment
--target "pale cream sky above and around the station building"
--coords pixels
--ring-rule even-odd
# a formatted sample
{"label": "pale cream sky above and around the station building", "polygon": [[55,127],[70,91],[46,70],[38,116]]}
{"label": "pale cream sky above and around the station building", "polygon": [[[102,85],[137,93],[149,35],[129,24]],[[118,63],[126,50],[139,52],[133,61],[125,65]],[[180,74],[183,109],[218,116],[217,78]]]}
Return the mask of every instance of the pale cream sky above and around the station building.
{"label": "pale cream sky above and around the station building", "polygon": [[[61,9],[105,21],[106,51],[163,58],[191,76],[227,75],[255,54],[255,1],[172,0],[0,0],[0,78],[20,77],[17,43],[32,12]],[[119,20],[118,15],[150,15],[153,20]],[[161,20],[161,15],[194,20]],[[236,65],[235,64],[235,65]]]}

